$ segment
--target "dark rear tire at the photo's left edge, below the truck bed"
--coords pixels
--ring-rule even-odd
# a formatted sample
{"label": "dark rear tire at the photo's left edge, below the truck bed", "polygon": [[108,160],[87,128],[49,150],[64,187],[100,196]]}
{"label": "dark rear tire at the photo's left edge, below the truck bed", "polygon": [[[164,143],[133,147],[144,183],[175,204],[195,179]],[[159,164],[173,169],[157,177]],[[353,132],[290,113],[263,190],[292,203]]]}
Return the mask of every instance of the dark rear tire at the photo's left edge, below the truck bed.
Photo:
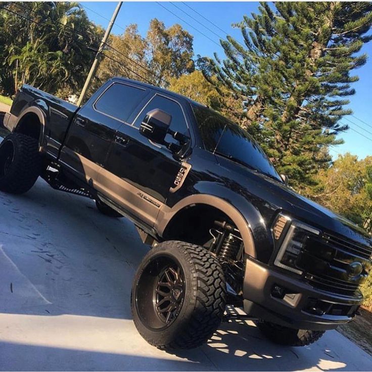
{"label": "dark rear tire at the photo's left edge, below the truck bed", "polygon": [[41,172],[38,141],[21,133],[11,133],[0,144],[0,190],[23,194]]}

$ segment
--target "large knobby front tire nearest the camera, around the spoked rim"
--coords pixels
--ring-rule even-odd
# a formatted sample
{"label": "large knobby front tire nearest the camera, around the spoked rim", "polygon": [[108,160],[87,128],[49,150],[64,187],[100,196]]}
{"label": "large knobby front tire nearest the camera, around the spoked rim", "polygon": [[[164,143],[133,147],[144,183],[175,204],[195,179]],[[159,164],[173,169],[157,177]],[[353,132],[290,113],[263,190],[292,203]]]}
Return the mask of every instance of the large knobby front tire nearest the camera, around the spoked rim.
{"label": "large knobby front tire nearest the camera, around the spoked rim", "polygon": [[[148,273],[160,276],[149,268],[161,259],[179,264],[184,276],[184,297],[173,322],[155,329],[141,316],[144,309],[155,308],[154,297],[140,297],[144,289],[146,292],[152,288],[153,280],[149,280]],[[221,266],[208,250],[198,245],[180,241],[161,243],[144,257],[134,277],[131,308],[135,327],[148,343],[160,349],[191,349],[205,343],[219,327],[225,304],[226,283]]]}

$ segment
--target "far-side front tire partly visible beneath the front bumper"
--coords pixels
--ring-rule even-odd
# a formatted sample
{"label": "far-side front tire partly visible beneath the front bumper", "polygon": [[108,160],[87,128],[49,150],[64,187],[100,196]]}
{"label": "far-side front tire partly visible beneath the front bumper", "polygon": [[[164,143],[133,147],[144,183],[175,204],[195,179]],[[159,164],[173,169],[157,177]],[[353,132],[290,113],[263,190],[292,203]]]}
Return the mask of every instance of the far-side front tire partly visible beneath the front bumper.
{"label": "far-side front tire partly visible beneath the front bumper", "polygon": [[285,346],[306,346],[323,336],[325,331],[298,330],[266,321],[257,323],[257,327],[266,338],[275,344]]}

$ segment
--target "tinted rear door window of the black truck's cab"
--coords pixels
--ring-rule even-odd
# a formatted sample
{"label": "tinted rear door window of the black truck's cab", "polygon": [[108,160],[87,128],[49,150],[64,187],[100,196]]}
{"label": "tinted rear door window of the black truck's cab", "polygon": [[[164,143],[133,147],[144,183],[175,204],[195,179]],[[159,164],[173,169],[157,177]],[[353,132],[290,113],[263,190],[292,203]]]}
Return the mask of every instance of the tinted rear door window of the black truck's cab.
{"label": "tinted rear door window of the black truck's cab", "polygon": [[94,108],[102,114],[125,122],[145,94],[144,89],[114,83],[94,103]]}

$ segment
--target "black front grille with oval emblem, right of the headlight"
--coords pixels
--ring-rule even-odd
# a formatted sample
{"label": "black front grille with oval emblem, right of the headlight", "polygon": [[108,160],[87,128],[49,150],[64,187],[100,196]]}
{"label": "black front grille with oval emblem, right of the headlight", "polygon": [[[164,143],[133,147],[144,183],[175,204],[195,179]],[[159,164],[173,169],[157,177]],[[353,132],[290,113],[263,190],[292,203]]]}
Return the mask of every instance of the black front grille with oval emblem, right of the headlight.
{"label": "black front grille with oval emblem, right of the headlight", "polygon": [[[309,236],[296,266],[313,287],[348,296],[359,296],[359,285],[366,279],[372,262],[372,247],[355,244],[329,234]],[[359,262],[361,273],[352,273],[350,264]],[[360,267],[359,264],[357,264]]]}

